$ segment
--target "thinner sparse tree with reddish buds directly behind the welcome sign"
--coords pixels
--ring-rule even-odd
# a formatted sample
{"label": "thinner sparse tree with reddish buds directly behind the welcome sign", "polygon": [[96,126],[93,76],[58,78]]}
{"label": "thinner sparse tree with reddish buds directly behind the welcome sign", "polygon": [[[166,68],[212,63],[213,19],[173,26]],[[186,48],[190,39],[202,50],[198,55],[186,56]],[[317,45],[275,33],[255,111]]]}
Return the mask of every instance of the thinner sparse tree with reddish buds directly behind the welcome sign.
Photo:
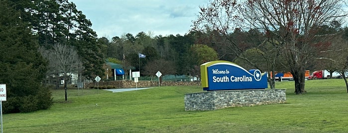
{"label": "thinner sparse tree with reddish buds directly behind the welcome sign", "polygon": [[[200,30],[202,32],[212,32],[215,35],[215,43],[224,52],[223,55],[233,55],[236,57],[231,62],[239,60],[247,66],[260,69],[262,71],[274,71],[277,63],[279,52],[274,50],[276,46],[269,47],[269,42],[275,42],[265,38],[265,33],[259,32],[259,29],[242,28],[245,20],[240,19],[237,14],[240,11],[240,5],[236,0],[211,0],[207,6],[201,6],[201,12],[197,20],[193,21],[192,30]],[[243,30],[247,30],[250,36],[242,35]],[[242,38],[241,38],[242,36]],[[275,43],[272,43],[275,44]],[[256,49],[258,57],[263,58],[262,62],[266,64],[266,68],[261,68],[260,64],[253,62],[247,53],[248,49]],[[243,60],[243,61],[240,61]],[[268,72],[270,74],[270,72]],[[273,89],[274,79],[269,77],[270,87]]]}

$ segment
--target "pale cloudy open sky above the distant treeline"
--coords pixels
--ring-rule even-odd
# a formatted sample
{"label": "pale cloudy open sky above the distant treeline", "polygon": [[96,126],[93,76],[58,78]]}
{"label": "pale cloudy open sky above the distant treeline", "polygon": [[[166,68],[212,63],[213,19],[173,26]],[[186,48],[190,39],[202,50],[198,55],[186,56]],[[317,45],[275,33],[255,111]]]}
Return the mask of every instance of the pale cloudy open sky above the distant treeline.
{"label": "pale cloudy open sky above the distant treeline", "polygon": [[92,21],[98,37],[143,31],[153,36],[184,35],[209,0],[70,0]]}

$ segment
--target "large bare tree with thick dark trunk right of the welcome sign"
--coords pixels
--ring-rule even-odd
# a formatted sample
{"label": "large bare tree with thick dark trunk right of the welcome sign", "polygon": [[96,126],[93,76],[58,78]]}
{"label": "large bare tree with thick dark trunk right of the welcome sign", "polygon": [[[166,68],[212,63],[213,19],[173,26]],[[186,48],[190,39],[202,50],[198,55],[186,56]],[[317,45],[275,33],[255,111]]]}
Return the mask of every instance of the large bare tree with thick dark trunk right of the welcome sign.
{"label": "large bare tree with thick dark trunk right of the welcome sign", "polygon": [[[321,25],[342,21],[344,0],[253,0],[246,2],[241,13],[252,27],[264,29],[280,43],[280,54],[285,55],[295,80],[295,92],[305,92],[304,71],[313,60],[312,44],[324,41],[317,38]],[[251,10],[250,12],[245,12]]]}

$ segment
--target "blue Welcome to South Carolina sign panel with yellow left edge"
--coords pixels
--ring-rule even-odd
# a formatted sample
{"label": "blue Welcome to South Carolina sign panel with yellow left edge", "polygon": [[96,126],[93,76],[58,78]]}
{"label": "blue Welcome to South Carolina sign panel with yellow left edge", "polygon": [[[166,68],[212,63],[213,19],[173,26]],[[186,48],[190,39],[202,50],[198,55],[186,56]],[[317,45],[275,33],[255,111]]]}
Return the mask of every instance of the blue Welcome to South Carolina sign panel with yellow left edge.
{"label": "blue Welcome to South Carolina sign panel with yellow left edge", "polygon": [[267,74],[258,69],[245,70],[228,61],[213,61],[201,65],[203,90],[265,89]]}

